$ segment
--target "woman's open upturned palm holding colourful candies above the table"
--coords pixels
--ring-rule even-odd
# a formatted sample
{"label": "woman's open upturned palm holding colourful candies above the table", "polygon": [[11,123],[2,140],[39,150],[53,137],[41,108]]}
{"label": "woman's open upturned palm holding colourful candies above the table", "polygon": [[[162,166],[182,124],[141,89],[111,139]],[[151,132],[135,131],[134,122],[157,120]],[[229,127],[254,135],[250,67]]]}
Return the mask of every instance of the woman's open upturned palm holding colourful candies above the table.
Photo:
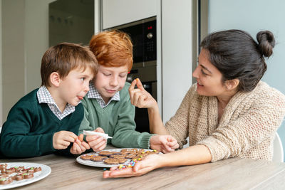
{"label": "woman's open upturned palm holding colourful candies above the table", "polygon": [[161,167],[161,159],[158,154],[150,154],[142,161],[137,162],[134,167],[127,167],[125,169],[118,169],[118,167],[111,167],[110,171],[103,172],[103,178],[118,178],[130,176],[142,176],[147,172]]}

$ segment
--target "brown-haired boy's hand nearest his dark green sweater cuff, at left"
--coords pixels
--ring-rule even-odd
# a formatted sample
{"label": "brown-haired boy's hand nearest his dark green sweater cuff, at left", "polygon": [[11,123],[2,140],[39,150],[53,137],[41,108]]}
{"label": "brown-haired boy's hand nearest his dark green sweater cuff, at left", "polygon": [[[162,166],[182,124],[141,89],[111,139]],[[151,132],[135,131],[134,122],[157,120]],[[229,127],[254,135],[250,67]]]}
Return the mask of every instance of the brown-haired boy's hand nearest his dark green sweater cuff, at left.
{"label": "brown-haired boy's hand nearest his dark green sweater cuff, at left", "polygon": [[53,148],[54,149],[66,149],[71,142],[75,142],[77,139],[76,134],[69,131],[60,131],[53,134]]}

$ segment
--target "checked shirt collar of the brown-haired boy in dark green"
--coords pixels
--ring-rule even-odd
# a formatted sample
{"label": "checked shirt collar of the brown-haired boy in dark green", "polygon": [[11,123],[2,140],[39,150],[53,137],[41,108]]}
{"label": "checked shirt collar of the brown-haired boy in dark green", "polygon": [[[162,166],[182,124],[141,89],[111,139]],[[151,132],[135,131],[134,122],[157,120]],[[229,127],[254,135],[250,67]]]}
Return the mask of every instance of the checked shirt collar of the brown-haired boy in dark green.
{"label": "checked shirt collar of the brown-haired boy in dark green", "polygon": [[64,117],[70,115],[72,112],[76,110],[76,107],[70,104],[66,105],[66,108],[61,112],[59,110],[58,105],[56,105],[56,102],[53,100],[53,97],[48,92],[48,89],[45,86],[41,86],[41,88],[38,89],[38,92],[36,93],[38,97],[38,102],[46,103],[48,104],[48,107],[51,109],[54,115],[58,117],[59,120],[62,120]]}

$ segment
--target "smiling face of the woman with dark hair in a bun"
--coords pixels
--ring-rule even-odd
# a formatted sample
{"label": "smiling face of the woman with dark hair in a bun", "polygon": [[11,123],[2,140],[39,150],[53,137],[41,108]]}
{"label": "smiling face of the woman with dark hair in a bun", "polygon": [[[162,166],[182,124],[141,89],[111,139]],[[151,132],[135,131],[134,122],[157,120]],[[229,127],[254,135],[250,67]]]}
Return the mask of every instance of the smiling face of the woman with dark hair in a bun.
{"label": "smiling face of the woman with dark hair in a bun", "polygon": [[197,93],[205,96],[219,96],[227,92],[222,83],[222,73],[207,58],[208,51],[202,49],[199,64],[193,72],[197,79]]}

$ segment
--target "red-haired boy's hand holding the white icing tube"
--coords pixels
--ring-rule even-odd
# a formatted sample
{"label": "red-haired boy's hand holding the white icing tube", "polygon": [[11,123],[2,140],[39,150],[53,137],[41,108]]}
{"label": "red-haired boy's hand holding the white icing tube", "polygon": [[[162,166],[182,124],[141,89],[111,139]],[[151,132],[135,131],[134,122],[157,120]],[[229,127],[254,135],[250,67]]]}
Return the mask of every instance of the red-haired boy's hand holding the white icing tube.
{"label": "red-haired boy's hand holding the white icing tube", "polygon": [[[98,127],[94,131],[105,133],[101,127]],[[99,152],[105,149],[107,145],[107,139],[100,137],[99,135],[96,134],[86,136],[86,141],[88,142],[88,144],[90,145],[90,147],[93,149],[94,152]]]}

